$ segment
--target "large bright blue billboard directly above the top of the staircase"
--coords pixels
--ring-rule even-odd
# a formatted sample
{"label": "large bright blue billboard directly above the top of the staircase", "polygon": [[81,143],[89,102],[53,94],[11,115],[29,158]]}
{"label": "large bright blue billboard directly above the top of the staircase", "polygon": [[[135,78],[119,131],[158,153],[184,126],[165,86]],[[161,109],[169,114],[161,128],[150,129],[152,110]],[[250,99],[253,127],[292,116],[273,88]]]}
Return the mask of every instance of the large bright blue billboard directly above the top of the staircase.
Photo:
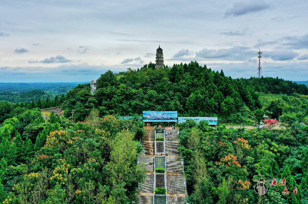
{"label": "large bright blue billboard directly above the top of the staircase", "polygon": [[143,111],[143,122],[177,122],[177,111]]}

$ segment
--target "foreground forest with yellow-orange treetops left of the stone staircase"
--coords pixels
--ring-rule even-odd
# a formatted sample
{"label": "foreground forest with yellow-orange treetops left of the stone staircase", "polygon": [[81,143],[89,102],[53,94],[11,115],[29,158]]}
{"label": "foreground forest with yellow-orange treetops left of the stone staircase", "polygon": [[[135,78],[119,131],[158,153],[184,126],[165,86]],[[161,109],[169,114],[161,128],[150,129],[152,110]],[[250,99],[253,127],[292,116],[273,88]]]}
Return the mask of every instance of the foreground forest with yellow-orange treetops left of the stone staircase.
{"label": "foreground forest with yellow-orange treetops left of the stone staircase", "polygon": [[[99,117],[86,123],[17,107],[0,128],[0,200],[3,203],[129,203],[138,182],[139,118]],[[127,124],[129,123],[129,125]],[[124,130],[125,129],[125,130]]]}

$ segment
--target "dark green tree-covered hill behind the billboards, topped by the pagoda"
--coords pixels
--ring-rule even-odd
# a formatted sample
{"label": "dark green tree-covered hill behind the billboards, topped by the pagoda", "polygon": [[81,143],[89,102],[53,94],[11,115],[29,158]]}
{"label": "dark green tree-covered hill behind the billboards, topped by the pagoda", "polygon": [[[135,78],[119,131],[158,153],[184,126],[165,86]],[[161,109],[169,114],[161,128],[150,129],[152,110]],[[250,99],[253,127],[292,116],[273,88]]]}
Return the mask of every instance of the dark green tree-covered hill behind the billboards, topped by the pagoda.
{"label": "dark green tree-covered hill behind the billboards, topped by the pagoda", "polygon": [[154,67],[150,63],[138,70],[107,71],[97,81],[94,98],[90,97],[89,84],[77,86],[66,95],[65,115],[75,109],[77,119],[84,120],[92,107],[102,115],[177,110],[180,116],[220,116],[236,122],[240,117],[237,113],[261,108],[258,92],[308,94],[303,84],[272,77],[232,79],[222,70],[212,71],[197,62]]}

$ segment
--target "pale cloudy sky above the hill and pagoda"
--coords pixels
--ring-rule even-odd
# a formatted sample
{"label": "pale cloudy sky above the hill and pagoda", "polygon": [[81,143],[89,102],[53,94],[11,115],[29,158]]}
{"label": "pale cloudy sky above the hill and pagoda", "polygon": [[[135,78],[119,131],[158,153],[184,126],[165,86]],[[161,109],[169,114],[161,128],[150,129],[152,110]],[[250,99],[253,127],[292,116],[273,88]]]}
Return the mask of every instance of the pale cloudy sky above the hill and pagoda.
{"label": "pale cloudy sky above the hill and pagoda", "polygon": [[308,80],[308,1],[2,0],[0,82],[97,79],[197,61],[232,78]]}

